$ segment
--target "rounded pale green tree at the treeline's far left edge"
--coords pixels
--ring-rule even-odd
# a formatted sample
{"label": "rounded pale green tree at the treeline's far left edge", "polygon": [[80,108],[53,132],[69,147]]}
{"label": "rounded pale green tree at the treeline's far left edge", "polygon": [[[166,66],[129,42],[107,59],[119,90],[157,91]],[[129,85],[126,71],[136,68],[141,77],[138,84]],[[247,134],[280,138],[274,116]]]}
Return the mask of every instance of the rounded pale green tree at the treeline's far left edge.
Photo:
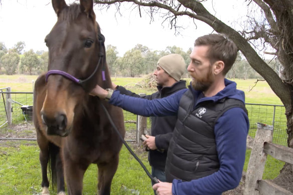
{"label": "rounded pale green tree at the treeline's far left edge", "polygon": [[1,62],[6,70],[6,73],[8,75],[13,75],[14,73],[16,73],[17,66],[20,62],[20,57],[16,52],[12,50],[2,56]]}

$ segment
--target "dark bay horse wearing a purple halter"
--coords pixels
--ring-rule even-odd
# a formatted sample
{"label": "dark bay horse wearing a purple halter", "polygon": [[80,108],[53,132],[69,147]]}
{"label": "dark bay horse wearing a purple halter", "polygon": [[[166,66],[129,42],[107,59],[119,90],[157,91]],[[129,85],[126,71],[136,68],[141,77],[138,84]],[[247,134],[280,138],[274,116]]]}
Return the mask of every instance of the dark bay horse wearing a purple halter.
{"label": "dark bay horse wearing a purple halter", "polygon": [[112,86],[93,0],[70,6],[52,0],[52,5],[58,19],[45,38],[48,72],[36,80],[33,106],[42,194],[49,194],[48,165],[58,194],[65,194],[65,182],[68,194],[82,194],[83,176],[91,163],[98,166],[98,194],[110,194],[122,141],[101,106],[122,137],[125,129],[120,108],[89,95],[96,84]]}

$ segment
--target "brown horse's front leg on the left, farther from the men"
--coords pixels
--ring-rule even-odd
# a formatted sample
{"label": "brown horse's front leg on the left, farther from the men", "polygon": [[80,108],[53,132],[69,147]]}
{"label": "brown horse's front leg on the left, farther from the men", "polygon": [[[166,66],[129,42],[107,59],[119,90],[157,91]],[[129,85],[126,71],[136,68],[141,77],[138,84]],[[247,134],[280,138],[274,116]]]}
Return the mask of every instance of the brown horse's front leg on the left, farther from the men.
{"label": "brown horse's front leg on the left, farther from the men", "polygon": [[63,152],[64,173],[68,195],[81,195],[83,175],[89,164],[85,165],[74,162],[68,154],[69,151]]}

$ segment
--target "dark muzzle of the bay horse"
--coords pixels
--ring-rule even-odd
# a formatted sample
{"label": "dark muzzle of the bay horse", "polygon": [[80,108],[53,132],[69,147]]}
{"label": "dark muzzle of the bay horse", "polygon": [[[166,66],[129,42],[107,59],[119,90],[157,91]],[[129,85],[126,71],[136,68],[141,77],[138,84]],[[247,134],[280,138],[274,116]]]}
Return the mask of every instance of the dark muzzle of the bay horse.
{"label": "dark muzzle of the bay horse", "polygon": [[46,114],[42,113],[43,123],[47,126],[48,135],[59,135],[65,137],[69,134],[66,130],[67,117],[64,114],[58,114],[56,117],[50,118]]}

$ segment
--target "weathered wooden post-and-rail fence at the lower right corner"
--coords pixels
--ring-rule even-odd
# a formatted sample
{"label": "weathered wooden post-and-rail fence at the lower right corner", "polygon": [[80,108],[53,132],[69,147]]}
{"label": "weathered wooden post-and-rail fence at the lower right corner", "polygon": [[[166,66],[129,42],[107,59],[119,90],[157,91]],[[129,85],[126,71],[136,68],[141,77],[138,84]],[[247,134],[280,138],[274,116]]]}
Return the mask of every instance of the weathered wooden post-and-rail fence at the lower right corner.
{"label": "weathered wooden post-and-rail fence at the lower right corner", "polygon": [[273,158],[293,164],[293,148],[271,143],[273,126],[258,123],[255,138],[247,137],[247,148],[251,149],[245,178],[244,195],[253,194],[290,194],[292,192],[262,180],[267,154]]}

